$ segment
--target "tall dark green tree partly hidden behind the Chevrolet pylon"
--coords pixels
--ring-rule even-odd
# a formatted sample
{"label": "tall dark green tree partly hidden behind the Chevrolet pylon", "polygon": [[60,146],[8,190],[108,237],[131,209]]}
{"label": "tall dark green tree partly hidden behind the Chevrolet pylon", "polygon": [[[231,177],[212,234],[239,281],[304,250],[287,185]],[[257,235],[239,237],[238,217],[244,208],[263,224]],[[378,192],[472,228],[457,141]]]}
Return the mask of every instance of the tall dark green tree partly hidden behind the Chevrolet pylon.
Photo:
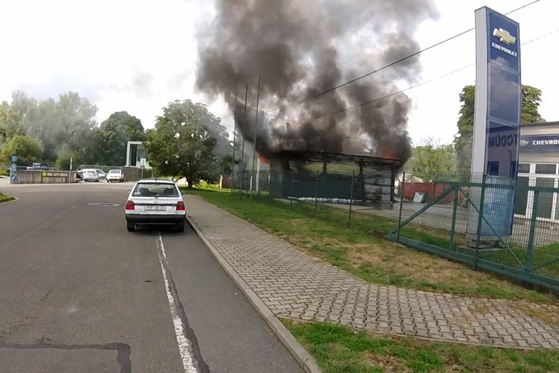
{"label": "tall dark green tree partly hidden behind the Chevrolet pylon", "polygon": [[[539,114],[539,103],[542,101],[542,91],[522,85],[521,121],[523,123],[545,122]],[[474,134],[474,98],[475,87],[467,85],[460,92],[460,117],[458,118],[458,133],[454,137],[454,147],[458,160],[458,172],[469,174],[472,163],[472,136]]]}

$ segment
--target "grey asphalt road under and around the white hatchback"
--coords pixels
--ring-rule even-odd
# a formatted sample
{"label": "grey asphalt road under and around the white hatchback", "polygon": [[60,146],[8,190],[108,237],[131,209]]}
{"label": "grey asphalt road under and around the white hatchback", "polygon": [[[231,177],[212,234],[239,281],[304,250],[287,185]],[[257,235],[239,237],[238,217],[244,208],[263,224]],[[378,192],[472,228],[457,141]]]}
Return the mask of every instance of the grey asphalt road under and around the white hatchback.
{"label": "grey asphalt road under and around the white hatchback", "polygon": [[130,187],[1,180],[0,371],[302,372],[189,226],[126,232]]}

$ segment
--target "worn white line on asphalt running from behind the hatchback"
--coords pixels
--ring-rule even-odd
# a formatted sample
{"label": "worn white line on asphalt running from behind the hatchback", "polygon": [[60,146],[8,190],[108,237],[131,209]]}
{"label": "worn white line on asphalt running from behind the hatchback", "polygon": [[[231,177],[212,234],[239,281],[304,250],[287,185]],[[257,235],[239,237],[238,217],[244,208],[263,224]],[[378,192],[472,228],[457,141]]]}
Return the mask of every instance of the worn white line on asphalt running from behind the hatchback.
{"label": "worn white line on asphalt running from behind the hatchback", "polygon": [[184,325],[182,319],[177,311],[177,305],[175,302],[175,297],[170,291],[169,280],[167,277],[166,266],[167,255],[165,254],[165,247],[163,244],[163,238],[161,238],[161,233],[159,233],[159,240],[157,240],[159,251],[159,264],[161,264],[161,272],[163,273],[163,280],[165,281],[165,290],[167,292],[167,299],[169,300],[170,314],[173,317],[173,325],[175,326],[175,335],[177,336],[177,344],[179,345],[180,357],[182,359],[182,366],[184,367],[185,373],[199,373],[196,365],[194,364],[194,358],[192,357],[192,344],[184,333]]}

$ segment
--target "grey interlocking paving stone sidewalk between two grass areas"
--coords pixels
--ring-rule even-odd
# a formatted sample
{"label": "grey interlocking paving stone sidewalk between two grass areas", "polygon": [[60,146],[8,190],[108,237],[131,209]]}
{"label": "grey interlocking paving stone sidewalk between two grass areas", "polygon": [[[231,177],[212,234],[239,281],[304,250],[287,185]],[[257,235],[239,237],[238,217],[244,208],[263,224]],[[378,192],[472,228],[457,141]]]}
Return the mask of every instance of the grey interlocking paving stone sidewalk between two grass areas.
{"label": "grey interlocking paving stone sidewalk between two grass areas", "polygon": [[[191,221],[277,316],[448,342],[559,348],[559,307],[369,284],[197,196]],[[532,310],[526,314],[523,310]]]}

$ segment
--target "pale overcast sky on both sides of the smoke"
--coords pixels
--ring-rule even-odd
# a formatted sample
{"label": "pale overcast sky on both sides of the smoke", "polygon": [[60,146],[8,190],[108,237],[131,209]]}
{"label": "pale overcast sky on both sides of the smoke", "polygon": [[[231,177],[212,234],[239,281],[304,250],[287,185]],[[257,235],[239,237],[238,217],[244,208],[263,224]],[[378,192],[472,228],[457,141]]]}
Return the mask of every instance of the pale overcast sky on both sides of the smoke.
{"label": "pale overcast sky on both sides of the smoke", "polygon": [[[423,22],[415,37],[428,47],[473,27],[474,10],[481,6],[507,13],[528,2],[435,0],[439,17]],[[209,0],[3,0],[0,101],[10,101],[15,90],[36,98],[73,91],[99,108],[99,122],[126,110],[149,128],[166,103],[190,98],[208,104],[232,131],[223,102],[209,101],[194,85],[196,33],[213,13]],[[558,1],[541,0],[509,17],[520,22],[525,42],[557,30],[558,13]],[[542,89],[540,113],[549,121],[559,120],[557,45],[559,32],[524,45],[521,53],[523,84]],[[474,50],[471,31],[424,52],[418,82],[474,63]],[[375,67],[363,66],[363,73]],[[471,66],[407,91],[413,100],[408,131],[414,144],[426,138],[453,140],[458,94],[474,82]]]}

